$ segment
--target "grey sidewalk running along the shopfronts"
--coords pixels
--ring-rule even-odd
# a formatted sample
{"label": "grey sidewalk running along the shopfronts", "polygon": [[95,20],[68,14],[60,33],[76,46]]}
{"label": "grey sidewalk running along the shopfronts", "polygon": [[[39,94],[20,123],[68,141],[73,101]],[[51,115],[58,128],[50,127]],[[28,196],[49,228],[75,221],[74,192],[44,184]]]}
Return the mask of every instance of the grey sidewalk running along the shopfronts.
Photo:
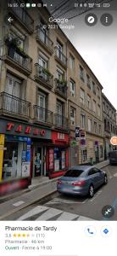
{"label": "grey sidewalk running along the shopfronts", "polygon": [[[95,166],[97,166],[98,168],[103,168],[104,166],[108,165],[109,160],[106,160],[103,161],[102,163],[98,163]],[[58,177],[54,179],[46,179],[46,181],[43,181],[42,183],[38,184],[37,179],[36,181],[33,180],[33,185],[30,186],[31,190],[29,187],[29,189],[27,189],[25,193],[0,204],[0,220],[8,217],[10,214],[14,212],[18,212],[21,209],[30,206],[36,201],[41,201],[42,198],[56,192],[57,180]]]}

